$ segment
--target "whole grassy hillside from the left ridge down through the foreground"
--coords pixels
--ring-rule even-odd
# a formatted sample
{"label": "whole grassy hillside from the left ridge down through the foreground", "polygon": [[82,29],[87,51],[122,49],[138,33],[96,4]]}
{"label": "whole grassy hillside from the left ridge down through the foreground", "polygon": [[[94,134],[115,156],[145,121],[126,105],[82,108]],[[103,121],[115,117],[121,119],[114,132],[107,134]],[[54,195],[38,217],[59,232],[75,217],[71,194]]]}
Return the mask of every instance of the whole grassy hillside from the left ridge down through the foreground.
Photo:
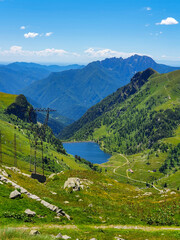
{"label": "whole grassy hillside from the left ridge down through the foreground", "polygon": [[[175,240],[178,237],[178,190],[157,191],[152,186],[144,188],[141,184],[137,187],[133,186],[130,179],[122,182],[118,175],[113,175],[117,162],[121,163],[116,156],[111,160],[110,167],[107,162],[101,168],[84,159],[75,159],[66,154],[50,128],[43,129],[38,123],[29,123],[26,116],[20,119],[7,112],[12,106],[13,110],[16,109],[16,104],[17,108],[24,106],[24,96],[1,96],[1,239],[54,239],[58,233],[72,239],[87,240],[93,237],[109,240],[119,236],[125,239],[136,236],[138,240],[142,240],[142,237]],[[39,145],[35,146],[35,141]],[[34,171],[35,152],[37,173],[42,174],[41,142],[47,177],[45,183],[30,177]],[[123,158],[121,160],[124,161]],[[78,191],[74,191],[71,186],[65,188],[66,181],[71,178],[83,182]],[[11,199],[9,196],[14,187],[9,181],[17,185],[18,191],[23,189],[31,195],[21,192],[20,197]],[[35,200],[35,196],[40,201]],[[63,209],[70,219],[63,215],[57,216],[56,211],[48,209],[43,202]],[[28,216],[26,209],[34,211],[35,216]],[[163,230],[161,226],[164,226]],[[30,232],[34,229],[40,235],[31,236]]]}

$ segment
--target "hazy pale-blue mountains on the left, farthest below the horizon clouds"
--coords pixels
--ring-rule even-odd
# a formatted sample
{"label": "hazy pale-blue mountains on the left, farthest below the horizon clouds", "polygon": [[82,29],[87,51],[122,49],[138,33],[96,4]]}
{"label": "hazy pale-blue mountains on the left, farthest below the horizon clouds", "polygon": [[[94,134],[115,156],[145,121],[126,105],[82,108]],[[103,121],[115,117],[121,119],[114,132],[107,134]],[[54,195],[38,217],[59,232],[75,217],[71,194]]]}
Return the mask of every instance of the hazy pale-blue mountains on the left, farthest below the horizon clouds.
{"label": "hazy pale-blue mountains on the left, farthest below the horizon clouds", "polygon": [[6,93],[21,93],[21,89],[31,83],[46,78],[51,72],[61,72],[68,69],[82,68],[81,65],[41,65],[37,63],[15,62],[0,65],[0,91]]}

